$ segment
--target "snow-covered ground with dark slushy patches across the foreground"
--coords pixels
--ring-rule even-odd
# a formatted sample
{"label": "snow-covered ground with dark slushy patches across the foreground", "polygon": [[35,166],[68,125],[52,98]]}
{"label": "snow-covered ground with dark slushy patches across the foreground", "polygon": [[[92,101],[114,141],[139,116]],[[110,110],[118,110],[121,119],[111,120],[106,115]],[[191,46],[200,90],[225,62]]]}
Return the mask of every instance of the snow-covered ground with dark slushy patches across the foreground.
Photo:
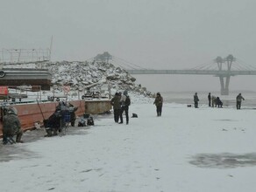
{"label": "snow-covered ground with dark slushy patches across the foreground", "polygon": [[1,144],[12,151],[1,191],[255,191],[255,110],[165,103],[157,117],[152,99],[132,100],[129,125],[95,116],[62,137]]}

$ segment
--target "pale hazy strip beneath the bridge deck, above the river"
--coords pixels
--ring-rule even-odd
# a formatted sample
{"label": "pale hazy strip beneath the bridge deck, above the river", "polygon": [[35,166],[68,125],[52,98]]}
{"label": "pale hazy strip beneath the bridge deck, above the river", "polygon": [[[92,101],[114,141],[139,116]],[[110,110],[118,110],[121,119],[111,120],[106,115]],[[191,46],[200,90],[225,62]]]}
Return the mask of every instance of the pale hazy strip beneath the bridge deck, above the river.
{"label": "pale hazy strip beneath the bridge deck, above the river", "polygon": [[[151,92],[219,92],[220,82],[210,75],[132,75]],[[231,77],[230,92],[255,91],[255,76]]]}

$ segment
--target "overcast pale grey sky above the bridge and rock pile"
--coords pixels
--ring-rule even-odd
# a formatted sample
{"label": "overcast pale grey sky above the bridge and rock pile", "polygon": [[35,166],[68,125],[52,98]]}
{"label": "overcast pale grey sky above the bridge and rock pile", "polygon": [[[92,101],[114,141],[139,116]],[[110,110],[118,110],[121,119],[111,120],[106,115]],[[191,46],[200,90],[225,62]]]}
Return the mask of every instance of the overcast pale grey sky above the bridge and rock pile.
{"label": "overcast pale grey sky above the bridge and rock pile", "polygon": [[48,48],[53,60],[98,53],[156,69],[233,54],[256,66],[255,0],[0,0],[0,48]]}

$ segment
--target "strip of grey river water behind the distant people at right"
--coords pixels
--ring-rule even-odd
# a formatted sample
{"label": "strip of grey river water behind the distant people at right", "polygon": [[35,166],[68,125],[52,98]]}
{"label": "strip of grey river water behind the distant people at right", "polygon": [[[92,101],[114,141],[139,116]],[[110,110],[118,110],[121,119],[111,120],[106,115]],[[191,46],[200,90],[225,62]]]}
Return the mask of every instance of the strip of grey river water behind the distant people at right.
{"label": "strip of grey river water behind the distant people at right", "polygon": [[[208,93],[205,92],[197,92],[199,97],[199,105],[208,106]],[[253,91],[232,91],[229,95],[221,95],[219,92],[212,92],[211,95],[219,97],[225,107],[236,107],[236,97],[238,93],[242,93],[242,96],[245,98],[242,101],[243,108],[255,108],[256,109],[256,92]],[[163,92],[161,95],[163,96],[165,102],[167,103],[177,103],[177,104],[186,104],[193,105],[193,96],[195,92]]]}

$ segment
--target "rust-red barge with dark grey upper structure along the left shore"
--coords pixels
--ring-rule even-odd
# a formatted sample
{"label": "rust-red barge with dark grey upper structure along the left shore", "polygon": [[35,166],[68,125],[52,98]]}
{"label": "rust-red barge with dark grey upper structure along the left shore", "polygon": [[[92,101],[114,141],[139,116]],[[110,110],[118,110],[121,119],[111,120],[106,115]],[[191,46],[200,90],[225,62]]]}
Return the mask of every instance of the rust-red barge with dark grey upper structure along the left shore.
{"label": "rust-red barge with dark grey upper structure along the left shore", "polygon": [[[58,96],[52,86],[52,74],[48,69],[1,67],[0,138],[3,136],[4,107],[6,106],[13,106],[18,110],[18,119],[24,131],[33,129],[35,124],[43,125],[43,120],[48,119],[55,112],[56,106],[59,105],[59,101],[56,99],[61,97],[65,97],[66,102],[78,107],[75,111],[76,116],[82,116],[84,113],[106,113],[112,107],[110,99],[100,99],[98,94],[85,94],[82,99],[78,96],[77,99],[69,101],[68,92],[70,91],[70,86],[62,86],[62,91],[66,93],[66,96]],[[53,89],[53,95],[48,96],[49,98],[45,101],[41,99],[41,91],[51,92],[51,88]],[[15,92],[11,93],[9,89],[13,89]],[[27,94],[22,94],[24,92],[37,93],[38,98],[31,99]],[[11,102],[9,101],[10,99]]]}

